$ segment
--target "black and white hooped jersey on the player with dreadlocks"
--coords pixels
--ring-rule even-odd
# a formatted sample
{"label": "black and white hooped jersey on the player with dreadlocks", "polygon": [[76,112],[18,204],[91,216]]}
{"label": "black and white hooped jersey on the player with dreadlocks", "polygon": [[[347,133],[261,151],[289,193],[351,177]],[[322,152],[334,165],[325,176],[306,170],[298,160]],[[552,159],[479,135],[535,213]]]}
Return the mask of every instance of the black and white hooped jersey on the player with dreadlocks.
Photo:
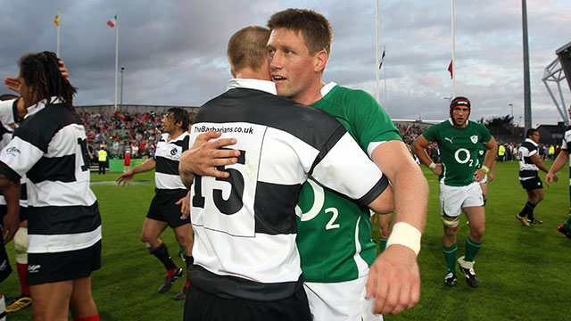
{"label": "black and white hooped jersey on the player with dreadlocks", "polygon": [[74,111],[55,101],[29,108],[0,153],[0,173],[29,179],[29,253],[85,249],[101,239],[101,218],[89,188],[86,133]]}

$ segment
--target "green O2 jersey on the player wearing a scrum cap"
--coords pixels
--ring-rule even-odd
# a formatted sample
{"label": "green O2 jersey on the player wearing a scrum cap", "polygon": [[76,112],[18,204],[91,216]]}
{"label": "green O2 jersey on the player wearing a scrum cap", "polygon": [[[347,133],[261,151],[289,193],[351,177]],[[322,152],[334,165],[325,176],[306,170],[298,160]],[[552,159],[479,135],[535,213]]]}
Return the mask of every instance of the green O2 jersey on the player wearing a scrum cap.
{"label": "green O2 jersey on the player wearing a scrum cap", "polygon": [[478,160],[481,146],[492,139],[484,125],[471,120],[466,128],[455,128],[448,119],[426,129],[422,135],[427,141],[438,143],[443,164],[443,172],[438,178],[450,186],[474,182],[474,172],[482,165]]}

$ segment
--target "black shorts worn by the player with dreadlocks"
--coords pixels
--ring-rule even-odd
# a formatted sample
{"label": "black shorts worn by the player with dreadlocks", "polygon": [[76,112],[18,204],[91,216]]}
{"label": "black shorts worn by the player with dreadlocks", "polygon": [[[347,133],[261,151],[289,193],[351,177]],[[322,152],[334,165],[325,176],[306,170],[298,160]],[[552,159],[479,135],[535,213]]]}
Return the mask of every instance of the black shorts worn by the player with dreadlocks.
{"label": "black shorts worn by the player with dreadlocks", "polygon": [[101,268],[101,240],[87,249],[28,253],[27,285],[77,280]]}

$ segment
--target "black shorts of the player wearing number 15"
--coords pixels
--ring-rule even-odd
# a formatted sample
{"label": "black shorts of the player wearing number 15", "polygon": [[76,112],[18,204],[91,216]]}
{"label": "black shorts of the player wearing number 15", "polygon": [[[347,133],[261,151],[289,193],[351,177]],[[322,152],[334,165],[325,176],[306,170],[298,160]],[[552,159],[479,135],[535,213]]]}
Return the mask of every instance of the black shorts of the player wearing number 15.
{"label": "black shorts of the player wearing number 15", "polygon": [[289,298],[272,301],[222,299],[190,284],[185,321],[310,321],[310,305],[303,288]]}

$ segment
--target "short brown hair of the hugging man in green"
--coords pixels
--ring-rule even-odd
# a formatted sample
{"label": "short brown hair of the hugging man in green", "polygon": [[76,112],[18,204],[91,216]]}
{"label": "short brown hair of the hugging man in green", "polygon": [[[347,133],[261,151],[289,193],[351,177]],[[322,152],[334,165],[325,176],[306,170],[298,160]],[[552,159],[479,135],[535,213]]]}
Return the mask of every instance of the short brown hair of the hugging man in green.
{"label": "short brown hair of the hugging man in green", "polygon": [[331,52],[333,42],[333,30],[327,19],[310,9],[290,8],[276,12],[269,17],[268,28],[270,30],[285,28],[301,32],[303,41],[310,50],[310,54],[325,50]]}

